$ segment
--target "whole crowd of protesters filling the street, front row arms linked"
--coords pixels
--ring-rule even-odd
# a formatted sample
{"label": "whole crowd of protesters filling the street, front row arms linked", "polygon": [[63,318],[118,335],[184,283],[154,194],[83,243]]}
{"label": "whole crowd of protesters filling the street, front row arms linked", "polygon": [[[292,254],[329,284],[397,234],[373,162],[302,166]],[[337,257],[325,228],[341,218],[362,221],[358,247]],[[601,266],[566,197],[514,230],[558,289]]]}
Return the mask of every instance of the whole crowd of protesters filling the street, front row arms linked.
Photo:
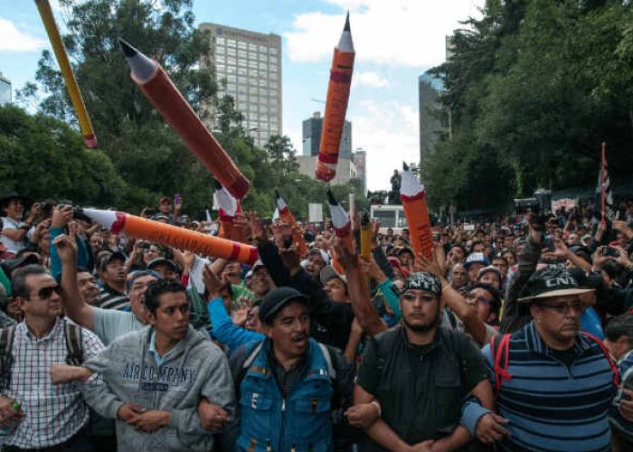
{"label": "whole crowd of protesters filling the street, front row arms linked", "polygon": [[[217,229],[182,207],[151,219]],[[372,223],[368,259],[238,213],[252,267],[0,208],[2,450],[633,450],[632,201],[438,224],[432,257]]]}

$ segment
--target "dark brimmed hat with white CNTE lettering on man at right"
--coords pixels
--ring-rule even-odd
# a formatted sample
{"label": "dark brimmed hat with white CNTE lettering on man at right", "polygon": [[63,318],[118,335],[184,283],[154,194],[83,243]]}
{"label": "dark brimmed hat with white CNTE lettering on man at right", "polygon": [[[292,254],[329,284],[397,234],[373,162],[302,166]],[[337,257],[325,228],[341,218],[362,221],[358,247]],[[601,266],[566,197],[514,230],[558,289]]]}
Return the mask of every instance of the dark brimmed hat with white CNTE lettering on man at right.
{"label": "dark brimmed hat with white CNTE lettering on man at right", "polygon": [[569,269],[561,265],[549,265],[534,272],[521,289],[519,303],[552,297],[572,297],[593,292],[592,288],[579,287]]}

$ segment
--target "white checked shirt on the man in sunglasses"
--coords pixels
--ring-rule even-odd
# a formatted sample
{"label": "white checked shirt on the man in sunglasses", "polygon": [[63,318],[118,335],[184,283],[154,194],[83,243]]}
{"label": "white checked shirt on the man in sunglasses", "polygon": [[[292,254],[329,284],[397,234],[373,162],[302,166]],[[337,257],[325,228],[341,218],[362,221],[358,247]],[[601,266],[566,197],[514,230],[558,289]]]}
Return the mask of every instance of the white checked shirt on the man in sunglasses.
{"label": "white checked shirt on the man in sunglasses", "polygon": [[[57,319],[49,334],[35,337],[24,322],[15,327],[11,382],[3,395],[22,404],[25,417],[4,443],[21,448],[61,444],[88,422],[88,409],[77,383],[53,385],[52,364],[66,363],[65,319]],[[99,338],[81,328],[84,360],[103,349]]]}

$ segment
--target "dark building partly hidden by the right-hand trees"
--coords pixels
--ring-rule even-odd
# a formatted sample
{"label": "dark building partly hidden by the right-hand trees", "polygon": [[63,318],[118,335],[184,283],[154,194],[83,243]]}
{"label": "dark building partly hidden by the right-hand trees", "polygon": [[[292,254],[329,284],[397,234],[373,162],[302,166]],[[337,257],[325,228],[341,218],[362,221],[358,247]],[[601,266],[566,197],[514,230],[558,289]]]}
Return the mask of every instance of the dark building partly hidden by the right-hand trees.
{"label": "dark building partly hidden by the right-hand trees", "polygon": [[425,72],[418,78],[420,108],[420,164],[432,155],[435,145],[446,127],[442,124],[443,109],[439,104],[442,82]]}

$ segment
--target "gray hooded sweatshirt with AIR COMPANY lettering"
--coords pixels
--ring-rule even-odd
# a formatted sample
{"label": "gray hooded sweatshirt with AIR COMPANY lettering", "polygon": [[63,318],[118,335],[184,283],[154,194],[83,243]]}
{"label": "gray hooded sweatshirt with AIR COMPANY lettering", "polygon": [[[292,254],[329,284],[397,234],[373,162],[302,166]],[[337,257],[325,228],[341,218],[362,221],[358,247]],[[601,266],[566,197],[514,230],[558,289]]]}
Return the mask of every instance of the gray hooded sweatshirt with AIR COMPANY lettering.
{"label": "gray hooded sweatshirt with AIR COMPANY lettering", "polygon": [[153,433],[138,432],[117,419],[118,450],[212,450],[213,436],[200,424],[198,403],[206,397],[233,417],[235,396],[226,357],[190,325],[159,367],[149,352],[151,332],[146,326],[125,334],[84,363],[96,372],[82,385],[86,402],[110,419],[117,419],[124,403],[171,413],[169,425]]}

